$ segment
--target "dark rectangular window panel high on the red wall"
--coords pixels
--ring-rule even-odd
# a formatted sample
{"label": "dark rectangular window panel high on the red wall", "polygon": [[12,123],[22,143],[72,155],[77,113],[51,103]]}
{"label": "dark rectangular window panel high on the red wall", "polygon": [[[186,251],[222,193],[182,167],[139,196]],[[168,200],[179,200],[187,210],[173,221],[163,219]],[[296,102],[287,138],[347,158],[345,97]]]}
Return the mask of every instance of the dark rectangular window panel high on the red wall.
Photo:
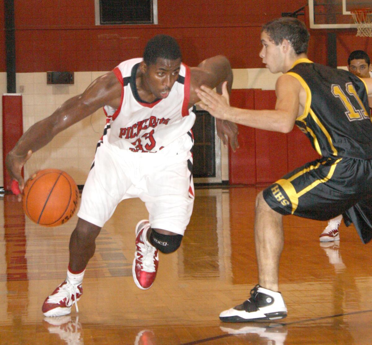
{"label": "dark rectangular window panel high on the red wall", "polygon": [[100,24],[152,24],[153,0],[100,0]]}

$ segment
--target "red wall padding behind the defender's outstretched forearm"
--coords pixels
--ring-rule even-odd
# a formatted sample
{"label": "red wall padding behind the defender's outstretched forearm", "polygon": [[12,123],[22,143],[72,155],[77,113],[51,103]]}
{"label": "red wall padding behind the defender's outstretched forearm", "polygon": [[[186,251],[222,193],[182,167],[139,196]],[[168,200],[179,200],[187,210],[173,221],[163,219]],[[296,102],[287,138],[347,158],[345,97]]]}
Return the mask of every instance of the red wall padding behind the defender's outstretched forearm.
{"label": "red wall padding behind the defender's outstretched forearm", "polygon": [[[232,90],[230,104],[240,108],[274,109],[273,90]],[[240,148],[229,148],[230,184],[272,183],[287,172],[319,158],[309,139],[295,126],[278,133],[238,126]]]}

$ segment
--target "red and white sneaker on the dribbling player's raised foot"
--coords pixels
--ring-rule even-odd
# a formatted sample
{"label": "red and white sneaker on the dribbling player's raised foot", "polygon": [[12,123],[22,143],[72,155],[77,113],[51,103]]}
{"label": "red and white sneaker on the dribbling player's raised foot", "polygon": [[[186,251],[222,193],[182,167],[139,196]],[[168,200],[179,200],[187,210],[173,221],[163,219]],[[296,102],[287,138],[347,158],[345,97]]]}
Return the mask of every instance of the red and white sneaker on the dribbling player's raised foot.
{"label": "red and white sneaker on the dribbling player's raised foot", "polygon": [[136,251],[132,273],[134,282],[142,290],[147,290],[153,285],[159,265],[158,249],[146,238],[148,229],[150,229],[148,220],[141,220],[136,226]]}

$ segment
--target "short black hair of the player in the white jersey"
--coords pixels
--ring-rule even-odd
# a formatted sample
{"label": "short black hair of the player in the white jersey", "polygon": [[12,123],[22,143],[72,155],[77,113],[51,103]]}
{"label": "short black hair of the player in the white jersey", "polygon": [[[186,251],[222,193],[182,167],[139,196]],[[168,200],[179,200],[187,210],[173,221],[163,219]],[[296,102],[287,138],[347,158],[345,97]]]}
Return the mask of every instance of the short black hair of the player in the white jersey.
{"label": "short black hair of the player in the white jersey", "polygon": [[147,42],[143,53],[145,64],[155,64],[158,58],[169,60],[182,58],[180,46],[173,37],[156,35]]}

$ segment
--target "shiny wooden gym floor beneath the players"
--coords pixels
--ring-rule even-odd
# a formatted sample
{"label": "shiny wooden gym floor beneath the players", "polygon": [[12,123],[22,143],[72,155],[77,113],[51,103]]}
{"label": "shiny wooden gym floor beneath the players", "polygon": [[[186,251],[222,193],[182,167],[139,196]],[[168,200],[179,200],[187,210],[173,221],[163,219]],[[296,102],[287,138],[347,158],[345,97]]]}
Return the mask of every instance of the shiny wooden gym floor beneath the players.
{"label": "shiny wooden gym floor beneath the players", "polygon": [[132,278],[134,227],[147,217],[123,201],[97,238],[79,312],[44,318],[45,297],[66,275],[76,216],[57,228],[23,216],[15,197],[0,200],[0,344],[372,344],[371,244],[340,227],[321,245],[326,222],[284,217],[280,290],[288,317],[222,323],[219,312],[243,302],[257,283],[253,244],[258,187],[197,189],[180,249],[160,255],[154,286]]}

